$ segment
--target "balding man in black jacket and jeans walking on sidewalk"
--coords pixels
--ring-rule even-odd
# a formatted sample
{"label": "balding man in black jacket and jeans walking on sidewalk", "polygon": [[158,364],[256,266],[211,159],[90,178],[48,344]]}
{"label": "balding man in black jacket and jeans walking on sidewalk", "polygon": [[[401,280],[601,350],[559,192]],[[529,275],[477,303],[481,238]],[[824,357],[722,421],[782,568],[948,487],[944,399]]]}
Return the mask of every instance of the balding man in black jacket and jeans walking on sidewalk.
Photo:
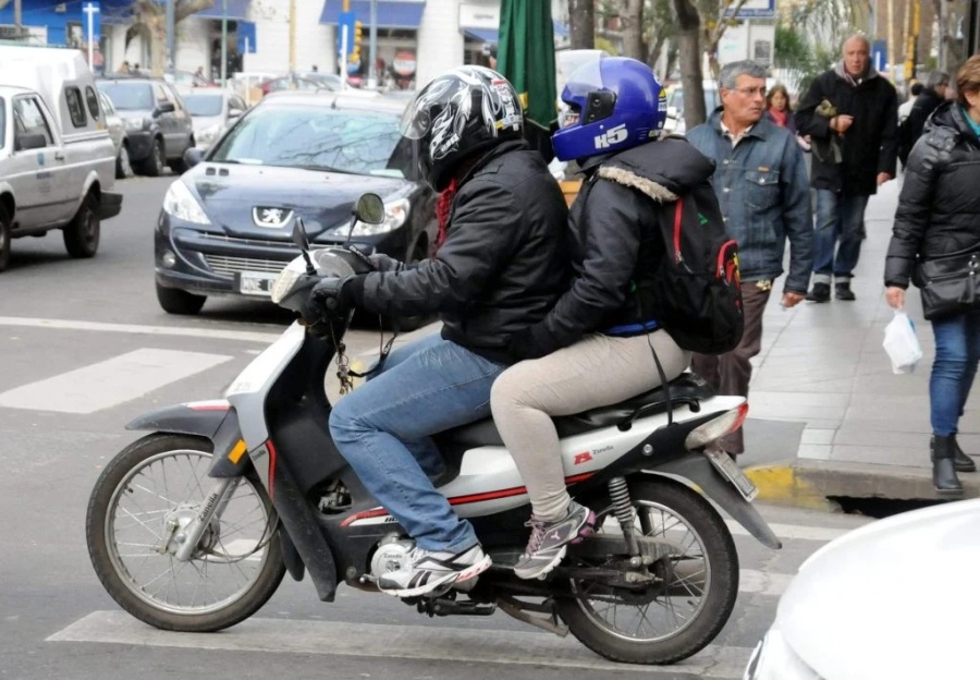
{"label": "balding man in black jacket and jeans walking on sidewalk", "polygon": [[[865,239],[865,208],[878,187],[895,177],[898,101],[895,87],[871,65],[868,39],[844,42],[844,58],[819,75],[796,112],[800,135],[810,135],[817,190],[812,302],[854,300],[850,278]],[[837,241],[840,240],[840,245]]]}

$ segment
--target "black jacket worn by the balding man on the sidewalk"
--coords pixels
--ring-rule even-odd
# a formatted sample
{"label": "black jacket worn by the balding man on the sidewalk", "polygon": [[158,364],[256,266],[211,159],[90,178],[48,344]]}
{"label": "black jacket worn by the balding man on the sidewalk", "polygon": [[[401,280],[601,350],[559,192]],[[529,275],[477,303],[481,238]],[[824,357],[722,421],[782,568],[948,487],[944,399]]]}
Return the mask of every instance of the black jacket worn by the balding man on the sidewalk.
{"label": "black jacket worn by the balding man on the sidewalk", "polygon": [[[830,129],[832,117],[818,112],[824,100],[837,114],[854,117],[843,137]],[[879,172],[895,177],[897,125],[895,88],[874,69],[859,84],[841,64],[817,76],[796,111],[798,133],[810,135],[812,143],[810,185],[852,196],[877,193]]]}

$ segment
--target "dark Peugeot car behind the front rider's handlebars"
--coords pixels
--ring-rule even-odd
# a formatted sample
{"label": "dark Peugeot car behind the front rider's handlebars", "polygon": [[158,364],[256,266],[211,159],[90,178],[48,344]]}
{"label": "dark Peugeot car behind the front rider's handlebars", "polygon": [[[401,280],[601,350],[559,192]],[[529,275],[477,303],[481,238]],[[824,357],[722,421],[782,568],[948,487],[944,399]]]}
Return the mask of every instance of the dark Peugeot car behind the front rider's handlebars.
{"label": "dark Peugeot car behind the front rider's handlebars", "polygon": [[[196,314],[208,295],[264,298],[298,254],[303,218],[314,247],[370,244],[403,262],[429,254],[434,193],[399,133],[406,101],[373,93],[277,93],[262,99],[163,198],[156,232],[157,299]],[[353,224],[357,197],[384,199],[380,224]]]}

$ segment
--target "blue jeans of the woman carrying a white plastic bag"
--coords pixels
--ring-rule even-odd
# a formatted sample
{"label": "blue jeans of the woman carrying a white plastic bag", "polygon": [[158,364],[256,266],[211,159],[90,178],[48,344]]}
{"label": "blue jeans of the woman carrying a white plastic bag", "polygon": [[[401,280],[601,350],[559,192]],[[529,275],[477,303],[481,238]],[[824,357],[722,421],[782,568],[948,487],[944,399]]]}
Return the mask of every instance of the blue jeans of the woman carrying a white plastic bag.
{"label": "blue jeans of the woman carrying a white plastic bag", "polygon": [[935,361],[929,378],[929,408],[932,433],[948,437],[966,406],[977,362],[980,361],[980,312],[968,312],[932,321]]}

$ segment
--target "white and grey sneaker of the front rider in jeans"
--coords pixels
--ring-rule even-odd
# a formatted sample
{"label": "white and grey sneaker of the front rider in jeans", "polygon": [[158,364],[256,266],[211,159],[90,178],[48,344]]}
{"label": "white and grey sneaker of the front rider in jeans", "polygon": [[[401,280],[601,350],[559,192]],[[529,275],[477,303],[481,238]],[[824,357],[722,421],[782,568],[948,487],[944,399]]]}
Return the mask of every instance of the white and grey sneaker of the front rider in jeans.
{"label": "white and grey sneaker of the front rider in jeans", "polygon": [[382,593],[395,597],[415,597],[444,593],[454,584],[467,581],[490,568],[490,556],[479,544],[462,552],[424,550],[415,547],[397,571],[378,579]]}

